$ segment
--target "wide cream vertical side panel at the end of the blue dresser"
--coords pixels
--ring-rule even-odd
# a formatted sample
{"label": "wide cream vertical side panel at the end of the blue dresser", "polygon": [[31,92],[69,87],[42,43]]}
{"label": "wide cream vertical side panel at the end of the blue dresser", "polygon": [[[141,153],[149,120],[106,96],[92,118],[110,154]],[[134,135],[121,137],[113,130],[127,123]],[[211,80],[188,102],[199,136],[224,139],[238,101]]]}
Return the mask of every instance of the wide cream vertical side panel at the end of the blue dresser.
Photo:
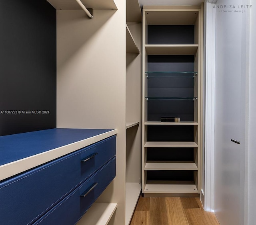
{"label": "wide cream vertical side panel at the end of the blue dresser", "polygon": [[118,10],[57,10],[57,127],[118,129],[116,178],[97,200],[118,203],[124,224],[126,2]]}

